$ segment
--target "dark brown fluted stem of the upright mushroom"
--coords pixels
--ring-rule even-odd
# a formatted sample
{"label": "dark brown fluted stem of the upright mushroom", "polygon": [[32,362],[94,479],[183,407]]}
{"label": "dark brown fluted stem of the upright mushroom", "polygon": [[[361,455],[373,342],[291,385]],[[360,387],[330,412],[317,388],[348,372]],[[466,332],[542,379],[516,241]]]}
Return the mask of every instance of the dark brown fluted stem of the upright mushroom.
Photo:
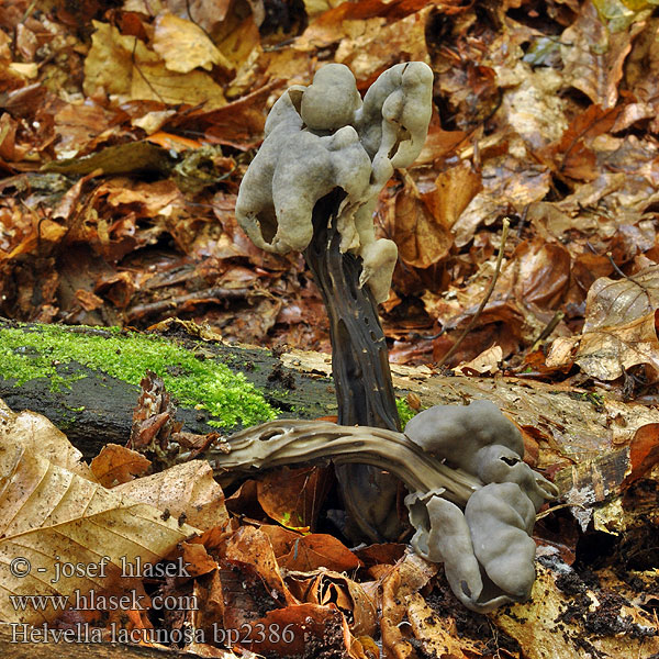
{"label": "dark brown fluted stem of the upright mushroom", "polygon": [[[361,259],[339,250],[336,216],[344,198],[335,188],[315,204],[313,238],[304,250],[330,316],[338,423],[400,431],[377,304],[368,287],[359,288]],[[337,477],[346,511],[358,527],[345,529],[351,539],[382,541],[401,534],[394,478],[366,465],[342,466]]]}

